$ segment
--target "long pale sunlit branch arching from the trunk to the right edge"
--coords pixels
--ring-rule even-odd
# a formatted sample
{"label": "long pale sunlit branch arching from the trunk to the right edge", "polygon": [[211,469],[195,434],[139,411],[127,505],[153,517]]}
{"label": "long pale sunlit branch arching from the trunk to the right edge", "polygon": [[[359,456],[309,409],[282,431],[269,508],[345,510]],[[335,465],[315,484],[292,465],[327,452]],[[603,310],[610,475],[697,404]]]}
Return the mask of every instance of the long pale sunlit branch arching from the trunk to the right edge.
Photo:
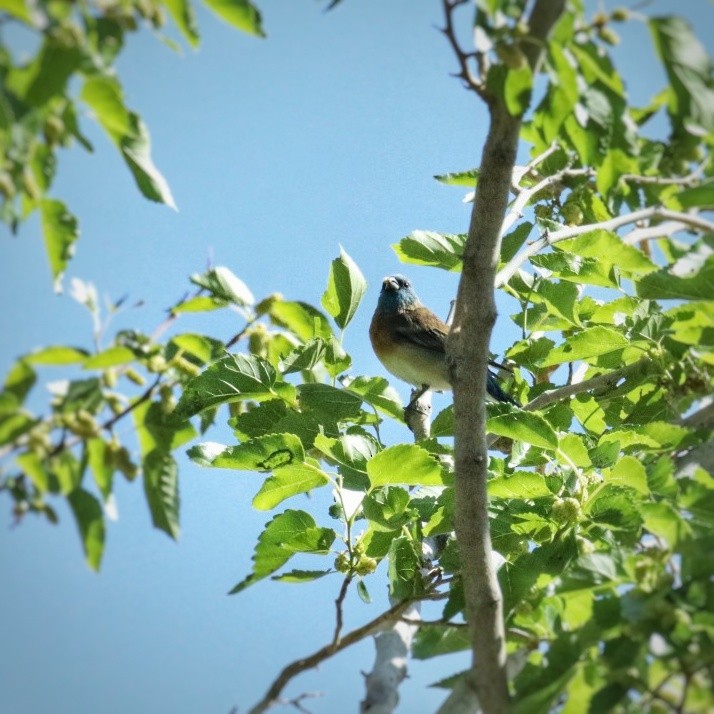
{"label": "long pale sunlit branch arching from the trunk to the right edge", "polygon": [[662,218],[665,220],[676,221],[677,223],[681,223],[688,228],[695,228],[707,233],[714,232],[714,223],[711,223],[700,216],[692,213],[670,211],[659,206],[643,208],[640,211],[633,211],[632,213],[627,213],[623,216],[615,216],[614,218],[607,221],[601,221],[600,223],[589,223],[584,226],[563,228],[559,231],[554,231],[553,233],[545,233],[538,240],[533,241],[533,243],[515,255],[504,266],[504,268],[499,271],[498,275],[496,275],[496,287],[507,283],[516,273],[518,268],[523,265],[523,263],[525,263],[529,258],[532,258],[546,246],[553,245],[562,240],[567,240],[568,238],[576,238],[577,236],[584,235],[585,233],[591,233],[592,231],[616,231],[618,228],[622,228],[622,226],[638,223],[639,221],[650,220],[652,218]]}

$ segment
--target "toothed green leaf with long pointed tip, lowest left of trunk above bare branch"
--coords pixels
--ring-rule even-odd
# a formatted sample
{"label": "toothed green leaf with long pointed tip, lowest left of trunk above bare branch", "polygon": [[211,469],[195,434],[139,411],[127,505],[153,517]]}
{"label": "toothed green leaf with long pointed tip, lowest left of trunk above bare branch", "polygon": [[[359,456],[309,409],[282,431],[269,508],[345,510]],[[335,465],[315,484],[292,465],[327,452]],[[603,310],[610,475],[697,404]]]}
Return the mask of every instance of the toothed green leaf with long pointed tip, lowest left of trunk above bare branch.
{"label": "toothed green leaf with long pointed tip, lowest left of trunk above bare branch", "polygon": [[295,553],[326,555],[336,538],[330,528],[318,528],[305,511],[287,510],[270,521],[258,537],[253,570],[230,594],[239,593],[282,567]]}

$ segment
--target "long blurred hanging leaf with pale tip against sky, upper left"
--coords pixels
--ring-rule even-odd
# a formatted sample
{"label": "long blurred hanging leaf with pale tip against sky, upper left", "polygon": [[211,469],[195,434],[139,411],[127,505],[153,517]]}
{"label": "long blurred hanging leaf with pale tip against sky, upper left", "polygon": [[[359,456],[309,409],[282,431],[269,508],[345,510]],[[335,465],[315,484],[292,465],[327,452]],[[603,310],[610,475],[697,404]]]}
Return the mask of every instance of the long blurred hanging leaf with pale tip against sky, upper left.
{"label": "long blurred hanging leaf with pale tip against sky, upper left", "polygon": [[119,82],[114,77],[91,75],[84,82],[80,98],[116,144],[141,193],[150,201],[175,209],[171,189],[151,159],[149,132],[139,115],[124,105]]}

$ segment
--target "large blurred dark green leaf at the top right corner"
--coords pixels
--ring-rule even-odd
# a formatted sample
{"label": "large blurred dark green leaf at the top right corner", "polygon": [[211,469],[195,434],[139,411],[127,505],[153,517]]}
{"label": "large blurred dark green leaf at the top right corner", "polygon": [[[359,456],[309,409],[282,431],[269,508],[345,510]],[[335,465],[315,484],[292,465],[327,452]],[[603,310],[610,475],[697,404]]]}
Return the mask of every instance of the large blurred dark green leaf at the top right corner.
{"label": "large blurred dark green leaf at the top right corner", "polygon": [[670,114],[697,136],[714,131],[712,65],[706,49],[682,17],[653,17],[649,27],[673,90]]}

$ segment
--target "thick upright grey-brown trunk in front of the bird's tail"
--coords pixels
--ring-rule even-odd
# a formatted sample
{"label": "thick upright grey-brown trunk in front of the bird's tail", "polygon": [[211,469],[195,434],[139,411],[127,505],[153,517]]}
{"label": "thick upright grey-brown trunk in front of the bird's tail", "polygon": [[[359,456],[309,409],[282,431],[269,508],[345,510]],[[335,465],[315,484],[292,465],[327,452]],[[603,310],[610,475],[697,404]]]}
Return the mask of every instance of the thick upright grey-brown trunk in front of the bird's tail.
{"label": "thick upright grey-brown trunk in front of the bird's tail", "polygon": [[[522,43],[531,68],[540,63],[545,40],[564,4],[564,0],[536,0],[529,17],[530,34]],[[489,341],[496,320],[494,278],[521,118],[509,114],[502,100],[492,99],[488,106],[489,132],[447,354],[454,387],[455,526],[473,651],[468,685],[475,687],[487,714],[501,714],[508,710],[508,683],[502,599],[489,532],[485,403]]]}

